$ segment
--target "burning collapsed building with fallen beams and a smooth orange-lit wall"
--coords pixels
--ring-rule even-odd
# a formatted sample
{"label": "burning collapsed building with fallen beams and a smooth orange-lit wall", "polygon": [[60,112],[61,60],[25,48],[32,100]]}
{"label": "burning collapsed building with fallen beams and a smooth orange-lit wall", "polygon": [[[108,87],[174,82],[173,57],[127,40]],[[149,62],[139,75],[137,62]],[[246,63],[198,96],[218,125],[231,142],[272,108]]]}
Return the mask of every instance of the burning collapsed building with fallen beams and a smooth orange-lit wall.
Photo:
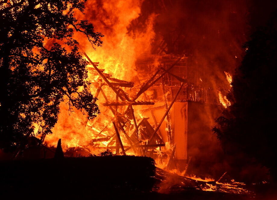
{"label": "burning collapsed building with fallen beams and a smooth orange-lit wall", "polygon": [[[166,169],[184,170],[188,160],[189,102],[220,105],[216,91],[193,84],[202,80],[194,75],[197,73],[189,66],[189,59],[185,55],[145,57],[136,63],[139,84],[135,86],[134,82],[105,73],[99,63],[84,51],[83,54],[90,62],[88,71],[94,78],[94,95],[99,98],[101,115],[109,120],[103,123],[102,116],[87,121],[86,130],[93,139],[78,151],[68,148],[65,155],[111,149],[117,155],[146,155]],[[161,64],[154,67],[157,58]],[[147,74],[145,69],[149,77],[140,77]],[[189,76],[193,78],[188,79]]]}

